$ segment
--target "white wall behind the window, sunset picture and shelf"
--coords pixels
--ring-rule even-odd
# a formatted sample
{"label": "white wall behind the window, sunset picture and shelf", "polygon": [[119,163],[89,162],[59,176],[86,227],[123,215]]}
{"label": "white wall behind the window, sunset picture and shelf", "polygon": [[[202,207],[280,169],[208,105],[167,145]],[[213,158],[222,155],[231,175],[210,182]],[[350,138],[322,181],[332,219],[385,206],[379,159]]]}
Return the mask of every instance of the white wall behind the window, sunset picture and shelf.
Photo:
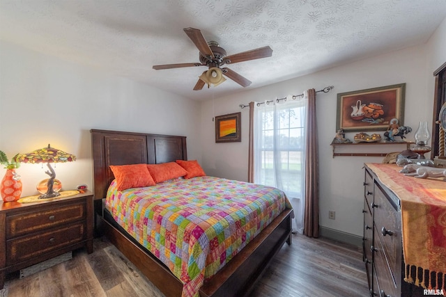
{"label": "white wall behind the window, sunset picture and shelf", "polygon": [[[320,225],[334,230],[362,236],[362,181],[363,163],[382,161],[382,157],[332,158],[330,143],[335,134],[337,93],[406,83],[404,125],[413,127],[408,135],[413,141],[418,122],[432,120],[433,76],[432,72],[446,61],[445,22],[427,45],[402,49],[390,54],[367,58],[347,65],[334,67],[274,85],[246,90],[236,95],[203,102],[201,106],[201,132],[203,141],[203,166],[209,175],[230,179],[247,180],[247,132],[249,111],[239,104],[298,95],[302,90],[320,90],[332,85],[330,93],[317,94],[318,143],[320,157]],[[299,67],[299,65],[296,65]],[[242,111],[242,142],[215,143],[213,115]],[[378,131],[383,134],[383,131]],[[353,140],[355,133],[347,137]],[[394,152],[405,147],[385,146],[379,150]],[[376,152],[375,147],[364,150]],[[328,211],[336,211],[336,220],[328,219]]]}

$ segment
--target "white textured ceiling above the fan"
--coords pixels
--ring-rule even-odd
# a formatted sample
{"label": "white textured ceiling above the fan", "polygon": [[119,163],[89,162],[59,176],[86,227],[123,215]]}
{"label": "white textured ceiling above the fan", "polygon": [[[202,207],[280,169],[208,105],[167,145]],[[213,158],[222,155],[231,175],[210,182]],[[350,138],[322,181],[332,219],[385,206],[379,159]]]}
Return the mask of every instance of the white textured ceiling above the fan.
{"label": "white textured ceiling above the fan", "polygon": [[[228,55],[269,45],[272,57],[228,65],[249,88],[426,42],[445,0],[0,0],[0,39],[192,99],[245,90],[227,79],[194,91],[206,67],[183,28]],[[327,81],[330,83],[330,81]]]}

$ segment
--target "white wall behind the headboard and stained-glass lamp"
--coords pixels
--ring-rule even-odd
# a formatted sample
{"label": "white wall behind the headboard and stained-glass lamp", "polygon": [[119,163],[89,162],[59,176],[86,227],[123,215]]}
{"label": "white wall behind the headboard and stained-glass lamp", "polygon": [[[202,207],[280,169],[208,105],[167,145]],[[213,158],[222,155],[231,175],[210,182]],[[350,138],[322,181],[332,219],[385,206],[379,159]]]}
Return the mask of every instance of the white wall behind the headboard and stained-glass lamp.
{"label": "white wall behind the headboard and stained-glass lamp", "polygon": [[[187,136],[200,159],[199,103],[98,70],[0,43],[0,150],[9,158],[50,143],[77,156],[56,164],[64,189],[93,188],[90,129]],[[36,194],[46,166],[22,164],[22,195]],[[0,178],[5,169],[0,168]]]}

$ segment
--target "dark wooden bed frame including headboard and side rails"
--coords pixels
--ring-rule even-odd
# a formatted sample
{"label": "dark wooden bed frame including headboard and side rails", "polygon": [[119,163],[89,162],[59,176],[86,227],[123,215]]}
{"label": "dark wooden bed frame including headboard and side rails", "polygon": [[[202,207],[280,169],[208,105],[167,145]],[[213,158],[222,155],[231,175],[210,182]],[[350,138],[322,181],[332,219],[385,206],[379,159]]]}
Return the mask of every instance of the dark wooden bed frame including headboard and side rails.
{"label": "dark wooden bed frame including headboard and side rails", "polygon": [[[95,230],[107,236],[166,296],[181,296],[183,283],[151,252],[126,236],[107,220],[102,200],[114,179],[110,165],[165,163],[187,160],[185,136],[167,136],[123,131],[91,130],[93,149]],[[231,262],[203,284],[200,296],[246,296],[254,288],[285,241],[291,244],[291,209],[286,209]]]}

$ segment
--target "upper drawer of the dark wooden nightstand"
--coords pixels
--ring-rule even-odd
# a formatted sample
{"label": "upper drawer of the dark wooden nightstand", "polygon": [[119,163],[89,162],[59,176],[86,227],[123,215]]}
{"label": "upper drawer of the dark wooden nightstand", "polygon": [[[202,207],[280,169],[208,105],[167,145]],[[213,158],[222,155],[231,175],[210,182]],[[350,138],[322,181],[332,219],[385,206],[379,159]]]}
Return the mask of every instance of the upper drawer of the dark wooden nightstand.
{"label": "upper drawer of the dark wooden nightstand", "polygon": [[85,202],[8,216],[6,218],[6,239],[24,234],[35,234],[56,225],[65,225],[77,220],[84,220],[85,217]]}

